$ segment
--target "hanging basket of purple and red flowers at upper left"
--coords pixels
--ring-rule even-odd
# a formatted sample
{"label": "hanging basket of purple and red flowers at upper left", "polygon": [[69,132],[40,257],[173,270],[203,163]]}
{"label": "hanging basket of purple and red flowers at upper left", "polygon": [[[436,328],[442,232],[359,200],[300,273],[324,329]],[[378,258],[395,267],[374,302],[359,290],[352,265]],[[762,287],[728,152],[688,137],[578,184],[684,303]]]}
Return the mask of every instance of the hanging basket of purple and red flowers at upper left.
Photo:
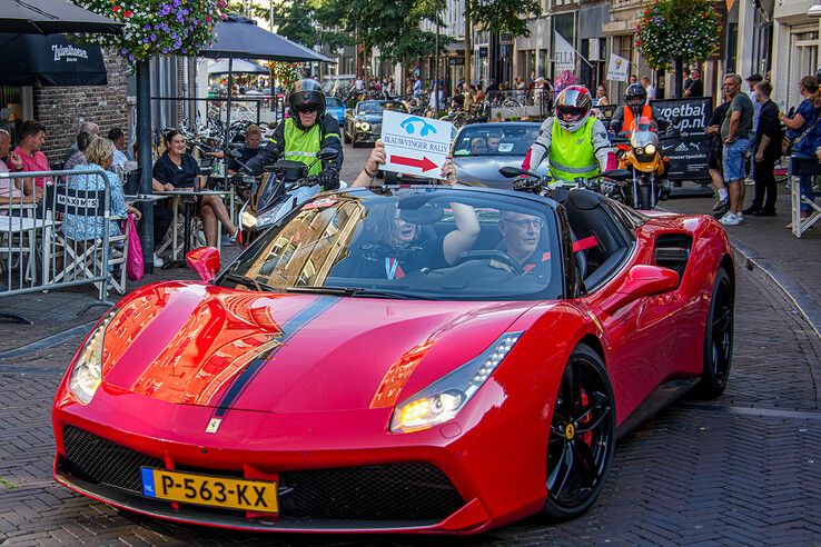
{"label": "hanging basket of purple and red flowers at upper left", "polygon": [[122,36],[83,34],[83,41],[113,47],[131,66],[164,54],[190,56],[209,44],[225,18],[227,0],[73,0],[120,21]]}

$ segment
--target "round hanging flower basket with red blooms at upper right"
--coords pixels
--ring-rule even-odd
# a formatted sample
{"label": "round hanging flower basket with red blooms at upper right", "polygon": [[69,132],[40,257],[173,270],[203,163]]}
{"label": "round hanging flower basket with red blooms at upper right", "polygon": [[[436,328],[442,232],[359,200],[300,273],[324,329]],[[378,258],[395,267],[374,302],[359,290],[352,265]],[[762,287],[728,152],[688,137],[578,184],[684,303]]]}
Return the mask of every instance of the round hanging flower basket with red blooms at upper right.
{"label": "round hanging flower basket with red blooms at upper right", "polygon": [[654,69],[701,62],[721,41],[721,13],[709,0],[656,0],[639,21],[635,47]]}

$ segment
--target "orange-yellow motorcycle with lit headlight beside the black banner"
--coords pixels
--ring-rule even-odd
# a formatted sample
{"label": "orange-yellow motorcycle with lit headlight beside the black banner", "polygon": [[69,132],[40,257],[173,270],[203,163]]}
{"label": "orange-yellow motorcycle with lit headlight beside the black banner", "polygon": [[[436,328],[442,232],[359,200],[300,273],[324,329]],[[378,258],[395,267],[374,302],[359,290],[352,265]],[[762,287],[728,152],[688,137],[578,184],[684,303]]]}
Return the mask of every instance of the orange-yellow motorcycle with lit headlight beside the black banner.
{"label": "orange-yellow motorcycle with lit headlight beside the black banner", "polygon": [[611,136],[620,149],[619,169],[626,170],[626,180],[602,181],[600,190],[633,209],[650,210],[670,197],[672,182],[666,178],[670,158],[662,156],[661,143],[679,139],[680,132],[671,126],[659,137],[652,119],[640,118],[631,123],[629,137]]}

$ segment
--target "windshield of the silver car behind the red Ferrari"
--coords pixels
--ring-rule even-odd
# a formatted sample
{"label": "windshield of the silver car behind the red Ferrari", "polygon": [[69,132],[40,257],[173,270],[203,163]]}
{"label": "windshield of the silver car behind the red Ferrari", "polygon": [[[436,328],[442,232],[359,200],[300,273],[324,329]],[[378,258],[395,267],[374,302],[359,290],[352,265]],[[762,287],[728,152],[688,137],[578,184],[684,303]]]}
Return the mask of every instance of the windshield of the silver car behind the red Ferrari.
{"label": "windshield of the silver car behind the red Ferrari", "polygon": [[538,137],[538,123],[479,126],[463,129],[454,156],[524,156]]}

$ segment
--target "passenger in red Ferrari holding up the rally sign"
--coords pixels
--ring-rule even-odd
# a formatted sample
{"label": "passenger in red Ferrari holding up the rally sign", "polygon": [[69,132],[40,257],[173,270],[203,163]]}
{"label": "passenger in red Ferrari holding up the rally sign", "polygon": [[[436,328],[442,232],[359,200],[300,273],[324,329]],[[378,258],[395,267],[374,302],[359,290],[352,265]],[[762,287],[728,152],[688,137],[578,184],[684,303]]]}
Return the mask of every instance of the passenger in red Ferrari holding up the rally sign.
{"label": "passenger in red Ferrari holding up the rally sign", "polygon": [[[354,187],[373,185],[379,165],[385,162],[385,146],[377,140]],[[443,185],[456,183],[456,170],[448,157],[442,166]],[[479,223],[473,207],[451,203],[456,229],[443,238],[419,241],[421,226],[403,219],[397,202],[375,207],[365,221],[369,241],[340,263],[334,275],[370,279],[398,279],[423,268],[453,266],[463,252],[473,248]]]}

